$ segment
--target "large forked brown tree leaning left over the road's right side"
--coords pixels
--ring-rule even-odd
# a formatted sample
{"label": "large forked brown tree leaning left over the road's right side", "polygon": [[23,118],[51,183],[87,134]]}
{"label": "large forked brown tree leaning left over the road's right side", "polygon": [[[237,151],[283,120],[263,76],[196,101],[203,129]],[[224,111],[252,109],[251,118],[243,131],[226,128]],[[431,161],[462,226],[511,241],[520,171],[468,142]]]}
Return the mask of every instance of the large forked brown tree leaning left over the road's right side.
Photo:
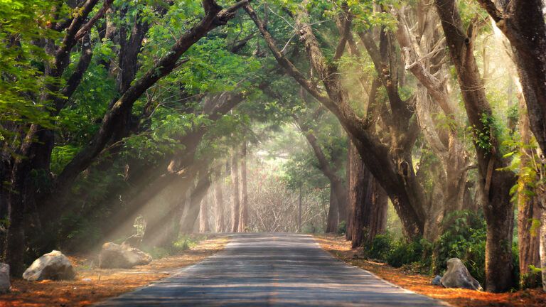
{"label": "large forked brown tree leaning left over the road's right side", "polygon": [[[299,29],[297,33],[301,41],[304,42],[306,54],[311,62],[313,71],[316,72],[319,82],[323,83],[327,95],[323,95],[319,87],[316,87],[317,82],[315,80],[310,80],[303,75],[280,52],[274,38],[264,23],[260,21],[254,9],[250,5],[244,7],[247,14],[252,18],[252,21],[255,22],[260,33],[262,33],[262,37],[279,65],[291,77],[294,77],[294,80],[304,87],[306,91],[338,117],[350,138],[354,141],[366,166],[370,168],[370,171],[390,196],[402,220],[407,237],[422,235],[424,230],[424,210],[421,206],[422,188],[416,181],[413,168],[410,167],[412,166],[410,149],[419,130],[417,123],[412,120],[412,112],[405,105],[409,101],[402,100],[397,92],[397,80],[395,78],[397,67],[390,65],[393,63],[392,57],[394,57],[394,54],[390,53],[391,58],[389,58],[389,53],[387,53],[387,50],[392,48],[392,45],[389,46],[389,42],[392,40],[387,40],[387,34],[381,31],[380,41],[382,43],[380,44],[380,48],[378,48],[373,43],[370,33],[362,33],[360,35],[368,53],[373,58],[375,70],[380,76],[382,85],[385,86],[390,102],[392,114],[388,112],[382,112],[381,114],[385,119],[385,125],[389,127],[392,134],[390,141],[395,142],[395,144],[386,146],[380,141],[378,135],[373,133],[374,131],[371,129],[373,121],[358,117],[350,109],[346,91],[343,89],[340,80],[337,79],[338,72],[335,62],[329,63],[324,58],[312,26],[309,25],[306,1],[299,6],[296,13],[296,28]],[[347,41],[348,31],[345,35],[342,35],[338,45],[344,46]],[[339,49],[343,50],[343,48]],[[390,151],[389,148],[396,150]]]}

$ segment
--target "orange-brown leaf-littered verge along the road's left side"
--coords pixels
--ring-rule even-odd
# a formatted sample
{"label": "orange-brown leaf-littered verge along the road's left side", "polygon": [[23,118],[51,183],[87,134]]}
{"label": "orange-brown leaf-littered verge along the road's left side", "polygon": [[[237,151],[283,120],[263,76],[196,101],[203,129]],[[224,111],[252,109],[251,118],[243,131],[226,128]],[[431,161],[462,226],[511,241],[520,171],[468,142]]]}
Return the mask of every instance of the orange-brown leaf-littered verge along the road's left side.
{"label": "orange-brown leaf-littered verge along the road's left side", "polygon": [[97,269],[91,267],[92,257],[68,255],[77,271],[75,280],[12,280],[11,292],[0,295],[0,307],[88,306],[164,279],[184,266],[220,252],[228,241],[228,237],[210,235],[181,254],[154,259],[150,264],[132,269]]}

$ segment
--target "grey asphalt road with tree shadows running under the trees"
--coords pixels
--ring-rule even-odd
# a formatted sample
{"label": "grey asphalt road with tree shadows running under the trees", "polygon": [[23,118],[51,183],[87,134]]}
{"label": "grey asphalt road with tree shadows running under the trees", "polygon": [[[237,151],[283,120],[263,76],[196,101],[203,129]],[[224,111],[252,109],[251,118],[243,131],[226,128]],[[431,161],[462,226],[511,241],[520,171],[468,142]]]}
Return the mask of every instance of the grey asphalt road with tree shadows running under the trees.
{"label": "grey asphalt road with tree shadows running under the trees", "polygon": [[223,252],[98,306],[446,306],[340,262],[307,235],[233,235]]}

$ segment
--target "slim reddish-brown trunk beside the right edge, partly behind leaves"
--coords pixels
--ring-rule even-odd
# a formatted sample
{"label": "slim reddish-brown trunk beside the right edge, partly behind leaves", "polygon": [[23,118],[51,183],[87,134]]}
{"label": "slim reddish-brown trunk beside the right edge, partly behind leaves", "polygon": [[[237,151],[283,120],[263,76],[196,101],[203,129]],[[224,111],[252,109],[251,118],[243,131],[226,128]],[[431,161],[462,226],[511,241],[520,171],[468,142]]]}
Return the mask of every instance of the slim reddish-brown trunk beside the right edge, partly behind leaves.
{"label": "slim reddish-brown trunk beside the right edge, partly behind leaves", "polygon": [[520,109],[520,136],[523,147],[520,149],[520,176],[518,177],[518,249],[520,254],[520,285],[532,286],[537,281],[529,276],[529,266],[540,267],[540,229],[533,227],[540,221],[541,208],[535,196],[528,195],[528,178],[525,168],[530,166],[530,157],[535,155],[530,149],[531,131],[529,129],[529,117],[525,107],[525,99],[519,93]]}

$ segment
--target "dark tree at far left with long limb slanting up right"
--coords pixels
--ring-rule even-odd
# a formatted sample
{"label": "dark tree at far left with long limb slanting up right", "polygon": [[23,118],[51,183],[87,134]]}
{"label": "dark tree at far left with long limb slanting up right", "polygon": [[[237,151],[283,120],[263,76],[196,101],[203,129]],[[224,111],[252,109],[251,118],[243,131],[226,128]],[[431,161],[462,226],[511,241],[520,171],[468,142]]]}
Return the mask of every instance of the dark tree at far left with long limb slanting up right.
{"label": "dark tree at far left with long limb slanting up right", "polygon": [[[83,1],[79,7],[70,7],[64,1],[52,4],[50,11],[58,15],[47,15],[47,18],[51,18],[53,22],[48,21],[46,25],[48,28],[58,31],[61,39],[50,39],[45,36],[44,41],[34,41],[38,42],[38,48],[43,48],[45,53],[48,53],[50,58],[53,59],[51,62],[45,61],[43,63],[43,76],[49,81],[41,89],[42,92],[39,95],[42,102],[40,105],[45,106],[50,116],[58,115],[67,107],[68,98],[73,95],[82,80],[82,75],[89,67],[91,55],[90,48],[87,48],[87,42],[89,42],[87,35],[95,23],[109,10],[112,1],[105,1],[100,9],[95,11],[94,8],[98,3],[98,0]],[[53,210],[57,204],[55,200],[70,190],[75,178],[96,161],[112,137],[117,137],[115,136],[119,132],[117,123],[127,118],[127,114],[131,113],[137,99],[158,80],[181,65],[178,60],[188,48],[214,28],[227,23],[235,16],[235,11],[245,3],[246,1],[242,1],[228,9],[223,9],[215,1],[203,1],[203,7],[206,8],[205,16],[190,31],[178,37],[166,55],[150,65],[147,72],[134,80],[132,85],[129,85],[129,83],[132,81],[134,73],[129,72],[127,79],[125,77],[127,74],[124,74],[124,77],[120,79],[119,90],[121,92],[119,92],[119,98],[109,104],[108,111],[100,122],[100,129],[90,137],[90,142],[82,146],[82,149],[73,156],[71,161],[65,164],[58,176],[48,178],[50,183],[47,188],[35,186],[30,178],[33,172],[44,173],[45,177],[50,177],[49,167],[55,141],[53,126],[44,125],[41,121],[14,126],[14,132],[19,136],[20,142],[18,144],[20,145],[16,149],[16,157],[11,158],[13,162],[10,163],[10,171],[4,172],[5,176],[8,177],[2,178],[3,182],[9,181],[11,183],[11,189],[4,199],[9,200],[11,208],[9,219],[12,222],[9,224],[7,235],[6,259],[12,265],[11,272],[13,274],[19,274],[23,269],[25,212],[32,212],[36,209],[36,204],[38,204],[39,208],[37,209],[40,212],[41,225],[54,225],[55,223],[51,223],[51,221],[55,221],[55,213],[53,212],[57,212]],[[79,13],[70,14],[71,11],[78,11]],[[90,16],[94,11],[95,14]],[[57,23],[56,20],[60,20],[60,22]],[[137,43],[132,46],[136,46],[137,49],[144,37],[144,33],[146,33],[146,31],[141,31],[143,27],[146,28],[146,25],[141,22],[138,24],[137,28],[140,29],[138,35],[130,36],[130,38],[135,38],[134,41]],[[61,42],[60,45],[55,45],[58,42]],[[28,48],[28,43],[33,42],[23,42],[20,48]],[[80,56],[79,63],[73,73],[66,74],[66,69],[70,63],[71,50],[78,43],[82,45],[82,56]],[[136,57],[134,54],[138,52],[134,48],[131,50],[134,52],[126,50],[127,52],[124,53],[123,58],[134,59]],[[65,75],[68,75],[68,78],[65,79],[64,83],[61,80]],[[9,152],[11,151],[7,151],[8,155]],[[35,196],[38,197],[36,203]],[[43,242],[38,244],[46,246]]]}

